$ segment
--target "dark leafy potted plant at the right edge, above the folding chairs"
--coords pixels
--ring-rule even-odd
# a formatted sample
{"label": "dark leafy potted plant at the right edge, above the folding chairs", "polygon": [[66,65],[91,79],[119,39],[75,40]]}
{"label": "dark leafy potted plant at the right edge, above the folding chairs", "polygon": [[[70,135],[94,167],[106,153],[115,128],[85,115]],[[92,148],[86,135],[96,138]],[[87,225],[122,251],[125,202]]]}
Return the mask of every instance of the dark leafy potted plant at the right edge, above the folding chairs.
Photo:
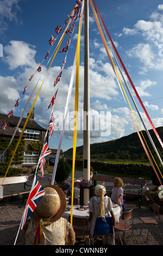
{"label": "dark leafy potted plant at the right edge, above the folding chairs", "polygon": [[156,186],[148,190],[145,198],[149,201],[149,208],[152,210],[152,204],[156,203],[160,206],[160,213],[163,214],[163,186]]}

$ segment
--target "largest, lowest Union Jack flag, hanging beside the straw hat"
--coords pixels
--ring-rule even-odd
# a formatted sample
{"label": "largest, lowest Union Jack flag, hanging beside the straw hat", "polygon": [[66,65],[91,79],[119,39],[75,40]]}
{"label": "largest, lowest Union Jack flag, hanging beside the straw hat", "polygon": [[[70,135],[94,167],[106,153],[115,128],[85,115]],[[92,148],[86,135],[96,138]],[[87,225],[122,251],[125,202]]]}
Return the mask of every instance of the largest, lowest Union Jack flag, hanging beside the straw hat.
{"label": "largest, lowest Union Jack flag, hanging beside the straw hat", "polygon": [[37,204],[39,203],[40,199],[43,197],[44,194],[45,194],[45,190],[40,185],[35,175],[33,184],[29,193],[29,197],[27,200],[26,208],[24,210],[24,214],[22,217],[21,229],[23,229],[24,224],[26,223],[26,221],[28,220],[32,212],[35,210]]}

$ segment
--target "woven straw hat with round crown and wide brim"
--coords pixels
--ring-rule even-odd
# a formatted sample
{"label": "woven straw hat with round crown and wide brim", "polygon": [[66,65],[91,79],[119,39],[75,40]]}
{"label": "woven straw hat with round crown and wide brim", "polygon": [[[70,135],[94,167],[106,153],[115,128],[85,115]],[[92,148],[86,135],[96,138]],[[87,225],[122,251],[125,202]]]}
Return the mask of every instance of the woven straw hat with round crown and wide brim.
{"label": "woven straw hat with round crown and wide brim", "polygon": [[45,195],[37,204],[35,211],[30,215],[33,220],[43,218],[44,224],[58,221],[66,210],[66,197],[60,187],[55,185],[43,186]]}

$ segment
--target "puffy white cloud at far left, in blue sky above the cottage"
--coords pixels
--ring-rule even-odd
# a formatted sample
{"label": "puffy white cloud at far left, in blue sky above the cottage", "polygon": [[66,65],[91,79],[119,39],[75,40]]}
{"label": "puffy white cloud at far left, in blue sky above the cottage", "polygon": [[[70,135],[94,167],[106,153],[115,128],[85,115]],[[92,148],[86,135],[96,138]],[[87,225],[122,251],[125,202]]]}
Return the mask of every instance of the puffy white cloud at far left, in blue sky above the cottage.
{"label": "puffy white cloud at far left, in blue sky above the cottage", "polygon": [[7,55],[5,62],[8,63],[11,70],[24,66],[34,67],[35,54],[34,46],[23,41],[10,41],[10,44],[4,47],[4,52]]}

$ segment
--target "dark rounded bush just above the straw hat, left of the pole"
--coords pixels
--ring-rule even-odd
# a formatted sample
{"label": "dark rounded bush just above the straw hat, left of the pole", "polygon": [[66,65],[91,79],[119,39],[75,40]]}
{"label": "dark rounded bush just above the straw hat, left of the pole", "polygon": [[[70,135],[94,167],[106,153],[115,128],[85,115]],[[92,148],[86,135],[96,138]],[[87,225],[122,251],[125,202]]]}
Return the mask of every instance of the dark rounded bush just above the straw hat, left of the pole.
{"label": "dark rounded bush just above the straw hat, left of the pole", "polygon": [[71,173],[71,166],[68,161],[64,158],[60,158],[58,161],[57,170],[55,173],[55,181],[63,182],[65,181]]}

